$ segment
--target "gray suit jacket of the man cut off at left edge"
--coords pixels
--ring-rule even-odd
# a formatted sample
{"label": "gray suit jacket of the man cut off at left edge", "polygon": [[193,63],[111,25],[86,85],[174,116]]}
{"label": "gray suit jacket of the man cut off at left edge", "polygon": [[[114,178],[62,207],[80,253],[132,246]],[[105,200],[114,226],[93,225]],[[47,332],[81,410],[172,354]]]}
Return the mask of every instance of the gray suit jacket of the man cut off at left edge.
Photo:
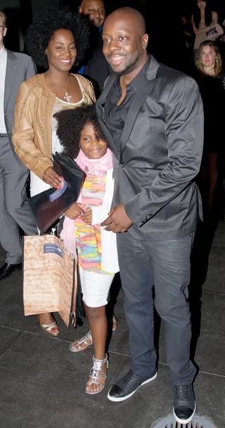
{"label": "gray suit jacket of the man cut off at left edge", "polygon": [[[4,94],[4,115],[8,139],[11,141],[15,100],[20,84],[37,74],[37,70],[30,56],[25,53],[7,51],[6,80]],[[14,150],[13,150],[14,151]]]}

